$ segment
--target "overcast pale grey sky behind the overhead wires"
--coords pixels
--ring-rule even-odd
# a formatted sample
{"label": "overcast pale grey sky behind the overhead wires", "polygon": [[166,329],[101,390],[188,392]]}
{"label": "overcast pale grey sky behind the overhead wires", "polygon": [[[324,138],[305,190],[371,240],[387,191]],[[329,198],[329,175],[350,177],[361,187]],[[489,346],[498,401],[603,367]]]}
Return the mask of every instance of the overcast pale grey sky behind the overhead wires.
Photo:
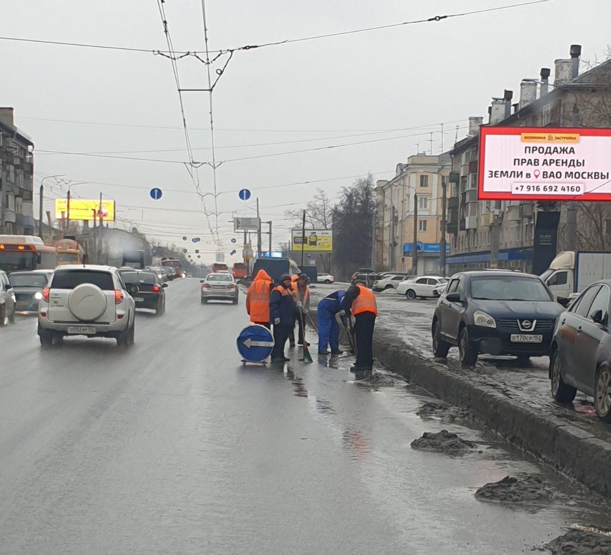
{"label": "overcast pale grey sky behind the overhead wires", "polygon": [[[215,50],[517,3],[207,0],[206,8],[209,45]],[[201,1],[166,0],[164,7],[174,48],[202,51]],[[611,43],[610,18],[609,0],[551,0],[236,52],[214,89],[216,157],[225,161],[217,170],[218,191],[227,191],[218,197],[225,252],[236,236],[229,224],[232,211],[254,214],[244,210],[254,202],[238,199],[238,189],[249,188],[253,199],[260,198],[262,219],[274,220],[275,247],[287,241],[291,227],[285,207],[301,207],[317,187],[334,198],[353,182],[350,176],[392,175],[397,163],[416,152],[417,143],[421,151],[430,149],[429,131],[435,132],[433,153],[441,152],[442,122],[448,150],[456,125],[462,138],[467,118],[487,116],[491,97],[502,96],[503,89],[514,90],[518,101],[521,79],[538,78],[541,67],[552,68],[553,74],[554,59],[568,57],[569,45],[581,44],[584,59],[601,57]],[[0,35],[167,49],[156,0],[0,0]],[[0,40],[0,51],[0,105],[15,108],[15,125],[32,136],[36,150],[188,160],[166,57],[7,40]],[[178,71],[182,87],[206,85],[205,65],[194,57],[181,59]],[[194,159],[209,161],[207,94],[184,97]],[[235,160],[373,139],[384,140]],[[131,152],[143,150],[155,152]],[[199,197],[181,164],[38,153],[35,171],[37,183],[51,174],[95,182],[75,186],[73,192],[95,198],[101,191],[114,198],[119,224],[134,222],[150,237],[177,244],[183,235],[211,240]],[[199,175],[202,190],[212,191],[210,167],[203,166]],[[314,180],[324,181],[278,186]],[[154,186],[163,189],[161,200],[150,199],[148,189]],[[49,192],[49,197],[58,195]],[[46,210],[52,205],[45,201]],[[207,205],[213,208],[210,197]],[[213,244],[204,242],[200,250],[207,251],[203,260],[213,260]]]}

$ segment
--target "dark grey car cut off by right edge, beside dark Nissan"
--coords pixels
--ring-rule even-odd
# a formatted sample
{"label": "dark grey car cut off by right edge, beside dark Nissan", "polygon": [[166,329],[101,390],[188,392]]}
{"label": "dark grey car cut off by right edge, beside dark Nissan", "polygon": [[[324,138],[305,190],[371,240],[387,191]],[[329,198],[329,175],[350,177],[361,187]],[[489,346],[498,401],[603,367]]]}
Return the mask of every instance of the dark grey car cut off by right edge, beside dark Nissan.
{"label": "dark grey car cut off by right edge, beside dark Nissan", "polygon": [[592,395],[605,422],[611,422],[610,298],[611,280],[598,281],[560,315],[549,364],[554,399],[570,403],[577,391]]}

